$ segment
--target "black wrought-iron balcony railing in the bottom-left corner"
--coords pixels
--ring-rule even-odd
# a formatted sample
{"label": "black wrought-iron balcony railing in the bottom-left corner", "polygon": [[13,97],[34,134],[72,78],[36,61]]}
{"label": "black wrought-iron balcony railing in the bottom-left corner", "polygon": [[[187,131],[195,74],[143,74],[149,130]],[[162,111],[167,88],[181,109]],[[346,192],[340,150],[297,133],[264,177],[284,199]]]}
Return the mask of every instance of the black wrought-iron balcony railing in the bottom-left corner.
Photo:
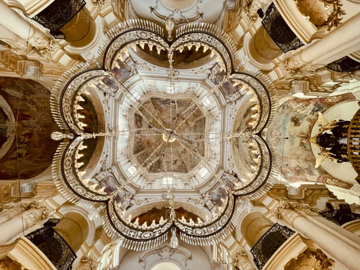
{"label": "black wrought-iron balcony railing in the bottom-left corner", "polygon": [[64,238],[52,228],[58,221],[56,222],[56,219],[49,221],[44,224],[45,227],[30,232],[25,237],[45,254],[57,270],[72,270],[73,262],[76,259],[75,252]]}

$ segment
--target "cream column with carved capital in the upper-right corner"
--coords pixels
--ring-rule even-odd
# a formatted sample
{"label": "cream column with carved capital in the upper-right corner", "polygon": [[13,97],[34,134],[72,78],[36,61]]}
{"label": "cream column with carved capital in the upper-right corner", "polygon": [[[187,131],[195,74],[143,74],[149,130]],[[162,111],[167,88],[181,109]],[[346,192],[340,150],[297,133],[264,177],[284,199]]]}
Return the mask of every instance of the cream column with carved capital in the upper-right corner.
{"label": "cream column with carved capital in the upper-right corner", "polygon": [[307,45],[300,53],[278,64],[284,70],[279,77],[309,76],[314,71],[332,61],[340,59],[360,49],[358,29],[360,12],[336,27],[322,39]]}

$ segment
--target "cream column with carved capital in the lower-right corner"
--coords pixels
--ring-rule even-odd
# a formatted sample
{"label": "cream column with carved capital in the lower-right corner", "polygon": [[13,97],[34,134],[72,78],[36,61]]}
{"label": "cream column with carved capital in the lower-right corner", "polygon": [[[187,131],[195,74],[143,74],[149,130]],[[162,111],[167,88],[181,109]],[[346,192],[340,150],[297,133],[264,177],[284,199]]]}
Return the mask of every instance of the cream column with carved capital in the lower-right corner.
{"label": "cream column with carved capital in the lower-right corner", "polygon": [[305,217],[307,214],[311,214],[309,210],[306,210],[308,205],[302,204],[300,206],[305,207],[296,207],[291,203],[281,201],[280,207],[273,214],[314,241],[320,248],[328,252],[335,261],[338,260],[349,269],[358,269],[360,266],[360,246],[310,221]]}

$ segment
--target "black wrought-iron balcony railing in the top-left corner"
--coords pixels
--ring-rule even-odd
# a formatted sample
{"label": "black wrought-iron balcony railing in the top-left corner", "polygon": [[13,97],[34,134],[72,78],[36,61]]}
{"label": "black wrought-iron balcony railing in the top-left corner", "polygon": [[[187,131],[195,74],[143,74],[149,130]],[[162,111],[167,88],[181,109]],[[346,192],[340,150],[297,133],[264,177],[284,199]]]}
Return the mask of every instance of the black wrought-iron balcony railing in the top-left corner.
{"label": "black wrought-iron balcony railing in the top-left corner", "polygon": [[73,19],[85,4],[85,0],[55,0],[31,19],[50,29],[54,38],[65,39],[65,34],[60,29]]}

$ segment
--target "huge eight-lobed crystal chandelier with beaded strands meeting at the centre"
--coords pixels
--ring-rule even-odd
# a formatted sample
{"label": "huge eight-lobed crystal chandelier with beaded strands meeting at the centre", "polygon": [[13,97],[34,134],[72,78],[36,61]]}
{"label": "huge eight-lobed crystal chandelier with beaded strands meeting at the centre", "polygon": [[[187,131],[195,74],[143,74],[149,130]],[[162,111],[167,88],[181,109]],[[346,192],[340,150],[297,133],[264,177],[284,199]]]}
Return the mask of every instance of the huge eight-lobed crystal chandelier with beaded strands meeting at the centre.
{"label": "huge eight-lobed crystal chandelier with beaded strands meeting at the centre", "polygon": [[[180,234],[181,240],[192,245],[211,245],[229,235],[235,228],[239,211],[236,207],[237,201],[242,199],[256,199],[268,191],[274,181],[278,177],[278,159],[275,148],[271,142],[266,141],[266,128],[271,125],[276,108],[276,89],[274,85],[261,72],[249,71],[244,68],[244,59],[241,61],[237,58],[236,48],[232,40],[226,33],[219,30],[214,25],[208,23],[187,24],[176,30],[176,37],[172,40],[171,32],[168,40],[164,37],[163,29],[152,22],[144,20],[125,21],[115,25],[110,29],[105,38],[102,40],[99,54],[102,56],[101,63],[95,60],[95,57],[87,52],[89,62],[95,64],[97,68],[92,68],[89,63],[82,63],[65,72],[57,81],[53,89],[51,99],[53,116],[58,126],[66,130],[67,134],[56,132],[52,135],[53,139],[69,139],[69,142],[62,142],[58,147],[57,153],[53,161],[53,178],[57,188],[66,199],[77,205],[92,206],[99,203],[100,207],[89,214],[90,219],[94,219],[98,214],[101,215],[103,227],[109,237],[114,241],[120,241],[123,247],[132,250],[147,250],[159,246],[167,240],[168,235],[171,237],[171,246],[178,245],[176,233]],[[123,59],[124,55],[130,48],[136,50],[136,46],[144,48],[147,44],[151,48],[155,48],[160,54],[165,51],[169,58],[169,79],[170,79],[170,106],[171,123],[165,126],[156,116],[154,116],[143,104],[138,96],[134,96],[121,81],[112,73],[116,65],[115,59]],[[208,91],[205,96],[198,97],[193,100],[191,105],[183,111],[179,111],[177,106],[178,93],[174,84],[175,71],[173,68],[173,54],[175,51],[180,53],[184,47],[191,48],[195,46],[196,50],[204,47],[210,50],[211,55],[217,57],[221,63],[221,72],[224,77],[221,81]],[[108,130],[105,133],[86,133],[81,116],[81,106],[79,101],[82,100],[82,93],[86,91],[85,85],[93,83],[95,80],[110,80],[111,87],[106,90],[106,95],[110,98],[119,98],[124,96],[131,102],[133,109],[142,117],[148,126],[134,129],[124,129],[119,131]],[[256,121],[253,121],[253,129],[247,133],[182,133],[178,131],[180,127],[199,106],[202,105],[210,96],[218,95],[218,90],[225,83],[231,83],[234,86],[239,84],[245,85],[249,92],[254,95],[254,100],[259,107],[259,114]],[[105,91],[105,90],[104,90]],[[222,94],[220,94],[222,95]],[[236,93],[224,97],[227,106],[230,107],[236,102]],[[141,108],[142,111],[139,109]],[[146,112],[146,115],[145,113]],[[173,120],[174,118],[174,120]],[[84,179],[85,172],[80,171],[81,163],[77,160],[81,156],[79,150],[84,149],[83,142],[92,137],[103,136],[107,138],[118,136],[160,136],[161,143],[147,157],[147,165],[133,172],[133,175],[119,176],[117,179],[118,187],[112,193],[106,193],[95,186],[89,185],[89,179]],[[201,135],[201,139],[192,139],[193,135]],[[233,174],[219,174],[208,164],[208,160],[200,154],[196,149],[197,142],[207,142],[209,140],[229,141],[231,138],[246,136],[254,141],[257,145],[259,154],[259,171],[254,178],[243,184],[229,185],[235,182],[236,178]],[[197,160],[211,174],[211,179],[215,180],[217,185],[221,185],[226,193],[226,199],[223,206],[218,208],[212,218],[207,221],[194,223],[192,220],[180,220],[175,214],[175,195],[174,185],[169,179],[173,179],[173,143],[179,143],[189,156]],[[166,147],[170,147],[170,154],[165,153]],[[170,166],[167,162],[170,160]],[[170,217],[161,218],[159,224],[151,224],[148,226],[146,222],[139,225],[137,221],[131,222],[131,218],[125,217],[124,212],[119,208],[119,194],[122,198],[127,193],[128,185],[133,179],[141,174],[146,173],[152,164],[161,162],[163,172],[167,179],[167,196],[169,208],[171,210]],[[236,200],[239,198],[239,200]],[[202,198],[205,204],[211,204],[211,198],[208,193]],[[210,205],[211,206],[211,205]]]}

